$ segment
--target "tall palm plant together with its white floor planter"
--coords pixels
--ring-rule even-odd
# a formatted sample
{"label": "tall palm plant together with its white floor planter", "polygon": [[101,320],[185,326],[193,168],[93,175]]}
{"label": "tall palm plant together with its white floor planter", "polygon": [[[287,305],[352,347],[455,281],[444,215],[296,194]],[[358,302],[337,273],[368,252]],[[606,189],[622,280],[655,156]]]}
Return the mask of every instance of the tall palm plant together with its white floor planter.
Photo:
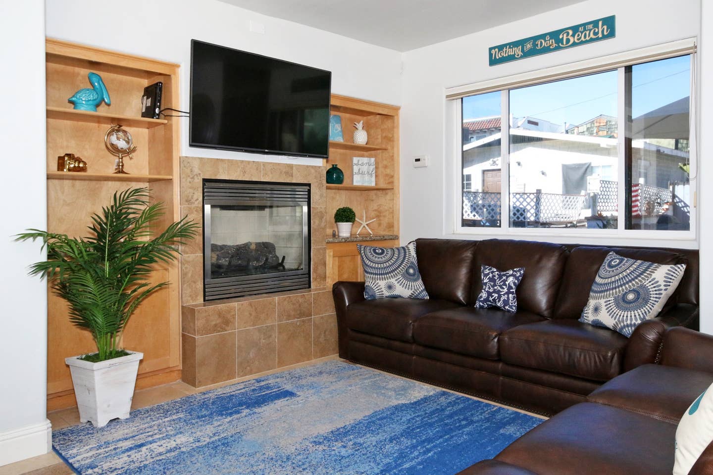
{"label": "tall palm plant together with its white floor planter", "polygon": [[97,353],[65,359],[79,419],[95,427],[129,417],[143,353],[122,348],[123,330],[145,298],[168,285],[151,281],[155,264],[175,260],[176,245],[198,232],[198,224],[185,218],[159,232],[155,224],[163,214],[163,203],[149,204],[147,188],[132,188],[114,193],[111,203],[91,216],[92,236],[38,229],[16,236],[16,241],[42,241],[47,259],[32,264],[29,273],[48,279],[69,304],[69,320],[96,343]]}

